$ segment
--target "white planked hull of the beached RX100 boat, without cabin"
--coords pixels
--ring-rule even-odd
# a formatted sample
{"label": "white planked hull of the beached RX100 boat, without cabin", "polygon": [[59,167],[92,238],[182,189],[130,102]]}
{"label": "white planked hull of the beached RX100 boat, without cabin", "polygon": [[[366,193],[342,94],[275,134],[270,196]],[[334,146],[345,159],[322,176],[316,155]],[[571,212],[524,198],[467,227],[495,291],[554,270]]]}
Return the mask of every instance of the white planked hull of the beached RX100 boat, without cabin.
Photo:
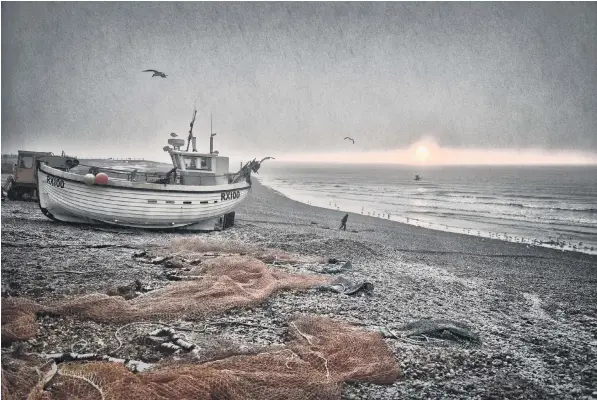
{"label": "white planked hull of the beached RX100 boat, without cabin", "polygon": [[225,214],[247,197],[251,185],[214,186],[137,183],[110,178],[87,185],[83,176],[40,164],[39,206],[62,222],[109,224],[145,229],[219,229]]}

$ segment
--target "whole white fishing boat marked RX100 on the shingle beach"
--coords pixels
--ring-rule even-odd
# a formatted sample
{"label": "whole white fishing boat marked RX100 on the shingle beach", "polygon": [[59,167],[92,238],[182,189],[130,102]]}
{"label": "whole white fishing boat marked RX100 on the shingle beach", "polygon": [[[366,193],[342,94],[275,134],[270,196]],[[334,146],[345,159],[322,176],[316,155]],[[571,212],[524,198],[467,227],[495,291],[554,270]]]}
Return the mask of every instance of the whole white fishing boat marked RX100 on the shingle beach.
{"label": "whole white fishing boat marked RX100 on the shingle beach", "polygon": [[83,165],[61,170],[39,162],[41,211],[55,221],[133,228],[213,231],[231,226],[234,210],[251,189],[251,172],[270,157],[229,173],[228,157],[213,151],[213,133],[210,152],[197,152],[195,115],[186,150],[181,149],[184,139],[171,138],[164,147],[173,166],[165,173]]}

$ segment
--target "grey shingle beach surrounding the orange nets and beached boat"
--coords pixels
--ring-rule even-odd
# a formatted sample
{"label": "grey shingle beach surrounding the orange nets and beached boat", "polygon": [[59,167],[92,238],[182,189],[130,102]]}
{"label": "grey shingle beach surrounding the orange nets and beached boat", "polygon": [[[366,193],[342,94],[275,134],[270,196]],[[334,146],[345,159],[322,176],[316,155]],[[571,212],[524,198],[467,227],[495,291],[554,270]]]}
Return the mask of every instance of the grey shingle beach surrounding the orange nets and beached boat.
{"label": "grey shingle beach surrounding the orange nets and beached boat", "polygon": [[[184,237],[252,243],[350,260],[352,268],[343,276],[371,282],[375,289],[360,297],[285,292],[254,310],[233,311],[230,318],[284,327],[293,312],[306,312],[392,331],[422,318],[449,319],[470,325],[481,337],[481,345],[387,338],[403,377],[390,386],[346,385],[345,398],[597,398],[597,256],[359,214],[349,214],[348,229],[340,231],[343,215],[289,200],[259,183],[237,211],[233,229],[204,235],[58,224],[35,203],[5,202],[3,296],[42,300],[105,293],[134,280],[160,287],[169,283],[164,267],[140,262],[135,252],[163,252]],[[45,352],[70,351],[73,336],[85,338],[86,351],[97,350],[96,343],[114,342],[118,328],[51,316],[39,322],[34,345]],[[283,342],[279,331],[259,328],[207,333],[248,345]],[[118,355],[149,362],[163,357],[146,347],[127,341]]]}

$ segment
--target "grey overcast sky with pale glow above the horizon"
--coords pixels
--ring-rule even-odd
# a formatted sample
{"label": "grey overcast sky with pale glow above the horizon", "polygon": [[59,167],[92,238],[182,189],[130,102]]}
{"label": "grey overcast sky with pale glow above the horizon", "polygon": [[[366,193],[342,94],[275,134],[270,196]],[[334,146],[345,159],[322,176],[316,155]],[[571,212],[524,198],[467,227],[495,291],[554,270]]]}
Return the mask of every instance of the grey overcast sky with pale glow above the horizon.
{"label": "grey overcast sky with pale glow above the horizon", "polygon": [[1,67],[2,153],[597,163],[596,2],[2,2]]}

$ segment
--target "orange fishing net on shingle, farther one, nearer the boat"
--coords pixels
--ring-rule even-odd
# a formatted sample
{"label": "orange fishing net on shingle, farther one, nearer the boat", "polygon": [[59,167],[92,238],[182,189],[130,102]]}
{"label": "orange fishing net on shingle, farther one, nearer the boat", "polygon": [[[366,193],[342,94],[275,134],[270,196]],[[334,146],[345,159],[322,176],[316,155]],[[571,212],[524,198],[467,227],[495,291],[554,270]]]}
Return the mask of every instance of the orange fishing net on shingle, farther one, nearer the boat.
{"label": "orange fishing net on shingle, farther one, nearer the boat", "polygon": [[100,293],[49,305],[2,298],[2,342],[34,337],[35,315],[39,312],[110,323],[200,319],[234,307],[258,305],[279,290],[308,289],[329,282],[328,277],[288,274],[242,256],[207,260],[187,275],[194,279],[171,283],[131,300]]}

